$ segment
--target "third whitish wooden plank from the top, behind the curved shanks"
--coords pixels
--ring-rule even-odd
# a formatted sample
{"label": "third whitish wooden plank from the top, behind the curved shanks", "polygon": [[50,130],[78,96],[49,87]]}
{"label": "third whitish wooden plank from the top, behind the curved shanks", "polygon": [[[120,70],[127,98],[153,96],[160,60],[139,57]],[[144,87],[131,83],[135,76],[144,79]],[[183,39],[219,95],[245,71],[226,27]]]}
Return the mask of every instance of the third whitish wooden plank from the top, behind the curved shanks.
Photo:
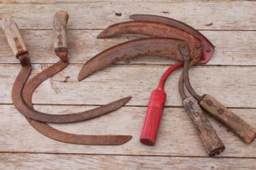
{"label": "third whitish wooden plank from the top, behind the curved shanks", "polygon": [[[48,66],[49,64],[33,64],[32,74],[35,75],[41,72],[41,67],[44,69]],[[78,82],[81,67],[82,64],[70,65],[43,82],[36,89],[33,102],[99,105],[132,96],[132,100],[127,103],[128,106],[147,106],[151,91],[158,84],[161,74],[168,68],[159,65],[116,64]],[[20,69],[19,64],[0,64],[1,103],[12,103],[11,87]],[[174,72],[166,81],[166,106],[182,106],[177,89],[180,71]],[[194,67],[190,75],[191,84],[198,94],[215,96],[227,107],[256,108],[256,67]],[[227,77],[229,79],[226,79]]]}

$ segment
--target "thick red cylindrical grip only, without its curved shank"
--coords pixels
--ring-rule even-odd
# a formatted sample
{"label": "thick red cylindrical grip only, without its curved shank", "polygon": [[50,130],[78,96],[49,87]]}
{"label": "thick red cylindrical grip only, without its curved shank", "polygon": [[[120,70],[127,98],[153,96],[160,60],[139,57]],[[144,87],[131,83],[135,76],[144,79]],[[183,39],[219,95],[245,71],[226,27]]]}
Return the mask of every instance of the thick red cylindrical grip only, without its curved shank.
{"label": "thick red cylindrical grip only, without its curved shank", "polygon": [[165,101],[166,93],[163,90],[156,89],[152,92],[140,137],[142,144],[153,146],[156,143],[156,135]]}

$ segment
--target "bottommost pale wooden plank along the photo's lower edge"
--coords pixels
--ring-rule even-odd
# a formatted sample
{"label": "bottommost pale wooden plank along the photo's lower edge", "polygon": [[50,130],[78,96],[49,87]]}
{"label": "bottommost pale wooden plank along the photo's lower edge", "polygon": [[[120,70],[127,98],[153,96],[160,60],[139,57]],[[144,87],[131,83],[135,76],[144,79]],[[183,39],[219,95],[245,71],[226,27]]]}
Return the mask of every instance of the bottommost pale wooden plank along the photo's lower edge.
{"label": "bottommost pale wooden plank along the photo's lower edge", "polygon": [[[35,162],[37,164],[35,164]],[[0,154],[0,169],[254,169],[255,159],[132,157],[75,154]],[[113,166],[114,164],[114,166]],[[36,165],[36,166],[35,166]],[[232,165],[232,166],[230,166]]]}

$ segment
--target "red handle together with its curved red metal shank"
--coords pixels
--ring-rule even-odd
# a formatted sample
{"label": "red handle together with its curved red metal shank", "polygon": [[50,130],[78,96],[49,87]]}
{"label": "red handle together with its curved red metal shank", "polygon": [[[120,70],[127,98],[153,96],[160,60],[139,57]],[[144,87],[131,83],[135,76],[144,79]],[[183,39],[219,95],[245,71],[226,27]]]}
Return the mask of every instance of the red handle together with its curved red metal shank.
{"label": "red handle together with its curved red metal shank", "polygon": [[166,101],[164,84],[169,75],[178,69],[178,67],[181,67],[182,64],[183,62],[178,62],[169,67],[169,69],[162,75],[157,88],[151,93],[146,111],[146,118],[140,136],[140,142],[144,145],[153,146],[156,143],[156,135],[160,125],[161,115],[164,111],[164,103]]}

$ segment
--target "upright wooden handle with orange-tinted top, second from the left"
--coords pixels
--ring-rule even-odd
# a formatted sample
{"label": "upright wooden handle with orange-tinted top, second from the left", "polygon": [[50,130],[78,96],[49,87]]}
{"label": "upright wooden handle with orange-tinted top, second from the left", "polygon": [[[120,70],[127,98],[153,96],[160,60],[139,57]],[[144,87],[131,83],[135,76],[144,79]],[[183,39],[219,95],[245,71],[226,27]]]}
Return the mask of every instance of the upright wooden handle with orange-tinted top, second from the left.
{"label": "upright wooden handle with orange-tinted top, second from the left", "polygon": [[55,51],[68,51],[67,38],[68,13],[58,11],[53,18],[53,34]]}

